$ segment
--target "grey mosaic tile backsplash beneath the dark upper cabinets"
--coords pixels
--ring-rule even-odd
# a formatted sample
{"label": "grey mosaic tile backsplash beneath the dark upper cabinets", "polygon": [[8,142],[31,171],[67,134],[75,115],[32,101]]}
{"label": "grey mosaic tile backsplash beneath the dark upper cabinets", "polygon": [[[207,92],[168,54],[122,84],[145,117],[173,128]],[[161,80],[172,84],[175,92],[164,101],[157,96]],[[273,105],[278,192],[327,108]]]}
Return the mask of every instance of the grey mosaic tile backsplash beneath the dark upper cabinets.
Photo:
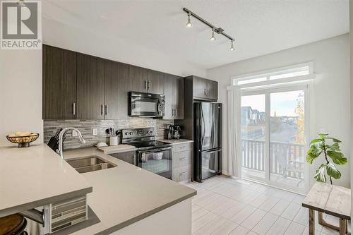
{"label": "grey mosaic tile backsplash beneath the dark upper cabinets", "polygon": [[[156,138],[160,140],[165,137],[167,125],[173,125],[173,120],[129,118],[124,120],[44,120],[44,143],[55,135],[57,128],[76,127],[85,138],[85,144],[81,144],[78,137],[72,137],[71,131],[66,135],[64,149],[89,147],[97,142],[109,143],[109,136],[105,132],[109,126],[114,126],[115,130],[125,128],[155,128]],[[93,128],[97,128],[97,135],[93,135]],[[119,140],[121,141],[121,140]]]}

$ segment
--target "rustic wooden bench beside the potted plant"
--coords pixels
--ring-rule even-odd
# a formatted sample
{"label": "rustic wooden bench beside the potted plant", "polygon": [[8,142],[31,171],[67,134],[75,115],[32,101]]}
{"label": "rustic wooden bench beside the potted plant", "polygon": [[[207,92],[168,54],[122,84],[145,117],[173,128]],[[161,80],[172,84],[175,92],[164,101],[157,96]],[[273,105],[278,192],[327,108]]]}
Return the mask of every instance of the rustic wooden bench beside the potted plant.
{"label": "rustic wooden bench beside the potted plant", "polygon": [[[309,209],[309,235],[315,234],[315,210],[318,211],[318,223],[347,234],[347,220],[351,214],[351,190],[341,186],[316,182],[302,203]],[[323,213],[340,219],[340,226],[328,224],[323,219]]]}

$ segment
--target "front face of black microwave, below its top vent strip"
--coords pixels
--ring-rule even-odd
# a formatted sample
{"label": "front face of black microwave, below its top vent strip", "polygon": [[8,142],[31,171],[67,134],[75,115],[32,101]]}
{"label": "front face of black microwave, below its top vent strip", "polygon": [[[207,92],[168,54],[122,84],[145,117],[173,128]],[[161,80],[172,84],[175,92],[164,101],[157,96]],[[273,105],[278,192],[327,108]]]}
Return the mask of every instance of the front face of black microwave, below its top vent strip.
{"label": "front face of black microwave, below its top vent strip", "polygon": [[163,116],[163,104],[159,99],[148,97],[130,97],[130,116]]}

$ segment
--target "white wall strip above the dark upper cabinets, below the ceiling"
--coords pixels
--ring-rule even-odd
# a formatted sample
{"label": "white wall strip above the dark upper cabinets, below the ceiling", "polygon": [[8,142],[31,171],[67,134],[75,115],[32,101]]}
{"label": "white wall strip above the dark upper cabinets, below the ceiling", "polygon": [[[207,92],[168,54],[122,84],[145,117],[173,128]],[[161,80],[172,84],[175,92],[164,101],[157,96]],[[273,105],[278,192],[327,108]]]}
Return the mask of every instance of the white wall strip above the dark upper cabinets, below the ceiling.
{"label": "white wall strip above the dark upper cabinets, below the ceiling", "polygon": [[166,56],[126,40],[98,35],[92,33],[91,29],[73,28],[48,18],[43,18],[42,24],[44,44],[179,76],[205,77],[206,74],[205,69],[186,63],[183,59]]}

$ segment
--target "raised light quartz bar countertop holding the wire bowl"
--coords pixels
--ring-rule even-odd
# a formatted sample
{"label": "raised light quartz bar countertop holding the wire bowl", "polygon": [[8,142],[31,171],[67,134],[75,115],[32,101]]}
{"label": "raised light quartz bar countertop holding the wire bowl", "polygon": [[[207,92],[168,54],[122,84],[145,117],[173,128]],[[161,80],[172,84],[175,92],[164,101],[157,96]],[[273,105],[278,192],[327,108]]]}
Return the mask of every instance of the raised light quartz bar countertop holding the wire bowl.
{"label": "raised light quartz bar countertop holding the wire bowl", "polygon": [[45,144],[0,147],[0,217],[84,195],[92,187]]}

